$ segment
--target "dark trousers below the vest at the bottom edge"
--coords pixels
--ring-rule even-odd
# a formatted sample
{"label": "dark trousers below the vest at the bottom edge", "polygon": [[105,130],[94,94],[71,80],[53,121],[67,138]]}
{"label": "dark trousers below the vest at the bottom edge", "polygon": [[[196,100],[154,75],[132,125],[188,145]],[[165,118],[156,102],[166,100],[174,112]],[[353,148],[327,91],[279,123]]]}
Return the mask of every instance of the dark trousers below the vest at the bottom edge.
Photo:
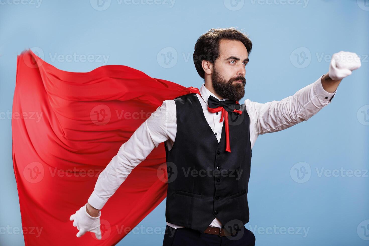
{"label": "dark trousers below the vest at the bottom edge", "polygon": [[163,246],[254,246],[255,236],[244,226],[235,237],[201,233],[191,228],[166,225]]}

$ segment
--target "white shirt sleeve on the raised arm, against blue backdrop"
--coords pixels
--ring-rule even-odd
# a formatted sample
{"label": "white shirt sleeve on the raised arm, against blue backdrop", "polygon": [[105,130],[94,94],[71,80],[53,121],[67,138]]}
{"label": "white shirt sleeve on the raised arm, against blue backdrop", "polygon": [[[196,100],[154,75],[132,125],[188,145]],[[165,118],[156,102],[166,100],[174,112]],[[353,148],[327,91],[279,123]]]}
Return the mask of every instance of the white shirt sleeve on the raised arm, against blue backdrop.
{"label": "white shirt sleeve on the raised arm, against blue backdrop", "polygon": [[259,134],[277,132],[306,121],[324,106],[331,103],[334,93],[323,89],[321,78],[298,90],[293,96],[280,101],[256,103],[245,100],[246,110],[250,116],[251,146]]}

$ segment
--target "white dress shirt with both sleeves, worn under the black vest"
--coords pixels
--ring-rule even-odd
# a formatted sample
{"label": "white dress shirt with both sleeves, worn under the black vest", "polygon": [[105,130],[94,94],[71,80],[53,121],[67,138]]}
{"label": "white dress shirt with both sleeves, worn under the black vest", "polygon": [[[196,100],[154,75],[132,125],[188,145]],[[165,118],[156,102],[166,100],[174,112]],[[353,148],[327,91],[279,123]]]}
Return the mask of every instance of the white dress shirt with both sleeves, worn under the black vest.
{"label": "white dress shirt with both sleeves, worn under the black vest", "polygon": [[[321,76],[323,77],[323,76]],[[312,84],[298,90],[293,96],[280,101],[268,103],[256,103],[245,100],[246,111],[250,118],[251,148],[254,146],[258,135],[268,132],[277,132],[299,122],[308,120],[321,108],[331,103],[334,93],[328,93],[323,89],[321,77]],[[221,112],[211,113],[207,110],[208,97],[211,93],[205,84],[200,87],[200,93],[196,94],[203,108],[206,121],[213,129],[218,142],[220,141],[223,122],[220,121]],[[227,100],[224,98],[223,100]],[[177,118],[176,104],[174,100],[165,100],[163,104],[144,121],[131,135],[127,142],[123,143],[106,168],[100,173],[96,181],[93,193],[88,202],[92,207],[101,209],[107,200],[115,193],[118,187],[131,173],[132,169],[146,159],[151,151],[165,142],[170,150],[176,138]],[[104,177],[104,178],[103,178]],[[173,228],[183,226],[170,224]],[[209,226],[222,227],[221,222],[215,218]]]}

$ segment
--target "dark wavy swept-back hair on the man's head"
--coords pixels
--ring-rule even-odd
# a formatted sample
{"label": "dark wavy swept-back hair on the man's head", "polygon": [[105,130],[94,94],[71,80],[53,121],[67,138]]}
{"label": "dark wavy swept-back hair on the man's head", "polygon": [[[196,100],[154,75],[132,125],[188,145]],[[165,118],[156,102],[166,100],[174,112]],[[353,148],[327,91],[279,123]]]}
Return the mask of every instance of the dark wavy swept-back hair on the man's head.
{"label": "dark wavy swept-back hair on the man's head", "polygon": [[214,63],[219,56],[219,43],[221,39],[238,40],[245,45],[247,54],[249,55],[252,48],[252,42],[247,34],[236,30],[235,28],[211,28],[197,39],[195,51],[193,52],[193,63],[195,64],[197,73],[204,79],[205,72],[201,63],[207,60]]}

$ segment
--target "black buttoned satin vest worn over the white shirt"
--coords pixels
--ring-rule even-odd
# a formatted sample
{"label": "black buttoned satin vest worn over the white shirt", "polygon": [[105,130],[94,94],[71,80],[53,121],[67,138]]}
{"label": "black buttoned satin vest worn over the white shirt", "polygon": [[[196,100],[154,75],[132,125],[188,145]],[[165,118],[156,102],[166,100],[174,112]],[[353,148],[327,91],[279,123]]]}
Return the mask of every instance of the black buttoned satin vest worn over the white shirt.
{"label": "black buttoned satin vest worn over the white shirt", "polygon": [[249,221],[247,192],[252,156],[245,105],[239,109],[241,115],[228,112],[231,152],[225,152],[225,123],[218,143],[196,93],[176,97],[174,101],[176,138],[169,151],[165,145],[166,221],[200,232],[215,217],[223,226],[232,221],[243,227]]}

